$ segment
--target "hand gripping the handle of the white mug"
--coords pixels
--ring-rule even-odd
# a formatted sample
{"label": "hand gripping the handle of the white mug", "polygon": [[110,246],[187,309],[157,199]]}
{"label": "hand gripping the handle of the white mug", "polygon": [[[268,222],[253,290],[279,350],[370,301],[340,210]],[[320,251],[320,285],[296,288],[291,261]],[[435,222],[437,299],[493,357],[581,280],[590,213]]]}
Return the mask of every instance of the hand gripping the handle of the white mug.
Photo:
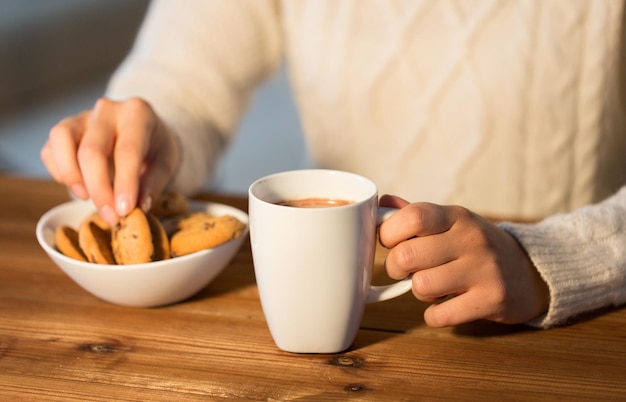
{"label": "hand gripping the handle of the white mug", "polygon": [[401,208],[380,226],[380,241],[391,249],[387,273],[394,279],[413,273],[415,297],[434,303],[424,312],[429,326],[517,324],[547,311],[547,284],[507,232],[458,206],[392,196],[380,204]]}

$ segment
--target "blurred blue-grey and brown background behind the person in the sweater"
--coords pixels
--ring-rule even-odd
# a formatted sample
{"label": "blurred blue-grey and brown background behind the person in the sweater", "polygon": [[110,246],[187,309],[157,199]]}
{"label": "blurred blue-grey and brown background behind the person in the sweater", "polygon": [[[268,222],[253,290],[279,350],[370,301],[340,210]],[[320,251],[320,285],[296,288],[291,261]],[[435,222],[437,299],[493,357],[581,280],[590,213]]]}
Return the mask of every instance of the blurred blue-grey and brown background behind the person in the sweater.
{"label": "blurred blue-grey and brown background behind the person in the sweater", "polygon": [[[1,174],[49,177],[39,159],[49,129],[102,95],[147,5],[148,0],[0,0]],[[257,92],[207,188],[245,193],[260,176],[308,166],[281,70]]]}

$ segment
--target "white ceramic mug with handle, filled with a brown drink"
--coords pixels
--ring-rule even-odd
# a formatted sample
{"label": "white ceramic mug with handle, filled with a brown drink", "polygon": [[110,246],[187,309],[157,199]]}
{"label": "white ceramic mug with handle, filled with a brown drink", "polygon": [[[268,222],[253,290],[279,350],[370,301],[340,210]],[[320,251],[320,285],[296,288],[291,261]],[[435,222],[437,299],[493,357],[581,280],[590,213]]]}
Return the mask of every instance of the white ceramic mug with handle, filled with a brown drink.
{"label": "white ceramic mug with handle, filled with a brown drink", "polygon": [[[248,193],[254,271],[280,349],[341,352],[354,341],[366,303],[411,289],[408,278],[371,285],[376,227],[390,215],[378,208],[372,181],[334,170],[294,170],[261,178]],[[352,203],[318,208],[277,204],[306,198]]]}

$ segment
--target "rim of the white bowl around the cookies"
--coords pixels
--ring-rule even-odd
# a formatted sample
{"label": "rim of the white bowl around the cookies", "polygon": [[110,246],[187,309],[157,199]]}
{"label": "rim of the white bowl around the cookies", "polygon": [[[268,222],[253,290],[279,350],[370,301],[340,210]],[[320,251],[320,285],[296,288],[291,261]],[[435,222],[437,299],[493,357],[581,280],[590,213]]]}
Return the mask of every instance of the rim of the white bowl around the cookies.
{"label": "rim of the white bowl around the cookies", "polygon": [[[220,244],[219,246],[212,247],[212,248],[205,249],[205,250],[199,250],[199,251],[186,254],[180,257],[169,258],[167,260],[145,262],[145,263],[140,263],[140,264],[128,264],[128,265],[96,264],[93,262],[79,261],[79,260],[76,260],[74,258],[64,255],[63,253],[58,251],[54,246],[50,245],[44,235],[44,229],[48,226],[48,222],[53,216],[55,216],[55,214],[59,213],[61,209],[70,208],[72,205],[80,205],[80,206],[84,206],[85,208],[88,208],[86,204],[91,204],[92,212],[96,211],[95,206],[90,201],[73,200],[73,201],[64,202],[62,204],[58,204],[50,208],[43,215],[41,215],[35,227],[35,236],[37,237],[37,242],[44,249],[44,251],[46,251],[46,253],[48,253],[51,256],[54,256],[55,258],[58,258],[60,261],[63,261],[69,264],[78,264],[78,265],[82,265],[86,269],[95,269],[95,270],[114,270],[114,269],[115,270],[119,270],[119,269],[144,270],[144,269],[155,269],[164,265],[171,265],[172,263],[184,264],[185,261],[187,260],[195,259],[198,257],[202,257],[204,255],[210,255],[214,252],[217,252],[217,250],[228,247],[231,243],[236,242],[237,240],[243,240],[243,238],[248,235],[248,231],[250,229],[250,220],[249,220],[248,214],[245,211],[237,207],[234,207],[232,205],[227,205],[227,204],[223,204],[219,202],[201,201],[201,200],[194,200],[194,199],[191,199],[188,202],[189,202],[190,211],[192,212],[208,210],[209,208],[215,208],[215,207],[223,208],[225,210],[230,210],[232,211],[233,215],[237,219],[241,220],[246,225],[246,227],[240,236],[234,239],[231,239],[223,244]],[[53,229],[56,230],[56,227],[54,227]]]}

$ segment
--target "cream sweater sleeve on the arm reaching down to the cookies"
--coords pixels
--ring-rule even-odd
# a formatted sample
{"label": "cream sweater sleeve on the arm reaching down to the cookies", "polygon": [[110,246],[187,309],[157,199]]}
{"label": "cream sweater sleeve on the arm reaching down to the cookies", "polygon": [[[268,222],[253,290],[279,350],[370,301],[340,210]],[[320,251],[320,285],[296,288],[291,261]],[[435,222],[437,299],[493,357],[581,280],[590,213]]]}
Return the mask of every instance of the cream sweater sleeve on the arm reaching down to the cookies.
{"label": "cream sweater sleeve on the arm reaching down to the cookies", "polygon": [[198,191],[212,177],[256,84],[281,57],[276,3],[157,0],[106,96],[141,97],[178,136],[171,187]]}

